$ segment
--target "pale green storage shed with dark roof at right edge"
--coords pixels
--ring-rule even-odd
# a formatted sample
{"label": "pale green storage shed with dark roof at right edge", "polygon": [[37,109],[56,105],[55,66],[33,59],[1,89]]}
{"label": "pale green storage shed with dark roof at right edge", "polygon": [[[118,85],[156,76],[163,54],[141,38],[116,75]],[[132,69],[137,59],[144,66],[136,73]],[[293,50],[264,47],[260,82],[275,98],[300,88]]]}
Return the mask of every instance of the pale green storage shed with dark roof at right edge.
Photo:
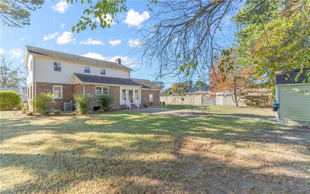
{"label": "pale green storage shed with dark roof at right edge", "polygon": [[300,69],[276,72],[277,122],[280,125],[310,126],[310,83],[303,69],[298,81],[295,76]]}

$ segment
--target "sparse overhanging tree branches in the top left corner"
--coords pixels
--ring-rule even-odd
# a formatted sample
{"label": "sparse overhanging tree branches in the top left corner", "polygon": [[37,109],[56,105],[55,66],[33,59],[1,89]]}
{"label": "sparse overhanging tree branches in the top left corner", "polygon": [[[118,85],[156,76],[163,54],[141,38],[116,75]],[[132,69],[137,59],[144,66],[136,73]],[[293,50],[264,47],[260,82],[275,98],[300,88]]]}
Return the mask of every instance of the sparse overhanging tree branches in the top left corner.
{"label": "sparse overhanging tree branches in the top left corner", "polygon": [[0,21],[9,27],[30,25],[30,11],[41,8],[44,0],[0,0]]}

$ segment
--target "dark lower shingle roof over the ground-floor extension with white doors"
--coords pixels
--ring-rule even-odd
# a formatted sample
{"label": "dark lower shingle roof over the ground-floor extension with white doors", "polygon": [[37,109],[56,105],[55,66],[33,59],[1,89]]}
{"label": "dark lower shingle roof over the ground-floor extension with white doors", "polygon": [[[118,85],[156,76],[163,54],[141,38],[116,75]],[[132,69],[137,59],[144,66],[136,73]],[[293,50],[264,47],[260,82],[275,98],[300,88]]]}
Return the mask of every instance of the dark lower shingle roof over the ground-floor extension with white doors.
{"label": "dark lower shingle roof over the ground-floor extension with white doors", "polygon": [[137,82],[125,78],[112,78],[106,76],[86,75],[81,73],[74,73],[74,75],[76,75],[80,81],[87,83],[141,86]]}

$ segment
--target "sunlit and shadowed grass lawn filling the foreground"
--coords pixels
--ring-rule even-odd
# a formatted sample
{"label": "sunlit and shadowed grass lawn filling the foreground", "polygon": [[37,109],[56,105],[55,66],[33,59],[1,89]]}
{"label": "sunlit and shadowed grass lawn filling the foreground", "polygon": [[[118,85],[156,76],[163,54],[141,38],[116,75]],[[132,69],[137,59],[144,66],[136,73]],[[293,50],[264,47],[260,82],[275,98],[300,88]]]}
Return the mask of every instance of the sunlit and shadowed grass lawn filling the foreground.
{"label": "sunlit and shadowed grass lawn filling the foreground", "polygon": [[0,120],[0,192],[306,194],[310,129],[207,115]]}

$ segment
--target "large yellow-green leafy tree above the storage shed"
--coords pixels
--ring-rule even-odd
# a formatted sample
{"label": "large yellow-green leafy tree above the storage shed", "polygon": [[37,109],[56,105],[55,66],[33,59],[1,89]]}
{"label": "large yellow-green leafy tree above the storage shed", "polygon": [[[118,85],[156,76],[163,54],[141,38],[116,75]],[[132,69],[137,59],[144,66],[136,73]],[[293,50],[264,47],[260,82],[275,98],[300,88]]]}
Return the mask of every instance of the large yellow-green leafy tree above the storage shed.
{"label": "large yellow-green leafy tree above the storage shed", "polygon": [[310,0],[248,0],[234,20],[242,53],[267,88],[276,71],[310,66]]}

